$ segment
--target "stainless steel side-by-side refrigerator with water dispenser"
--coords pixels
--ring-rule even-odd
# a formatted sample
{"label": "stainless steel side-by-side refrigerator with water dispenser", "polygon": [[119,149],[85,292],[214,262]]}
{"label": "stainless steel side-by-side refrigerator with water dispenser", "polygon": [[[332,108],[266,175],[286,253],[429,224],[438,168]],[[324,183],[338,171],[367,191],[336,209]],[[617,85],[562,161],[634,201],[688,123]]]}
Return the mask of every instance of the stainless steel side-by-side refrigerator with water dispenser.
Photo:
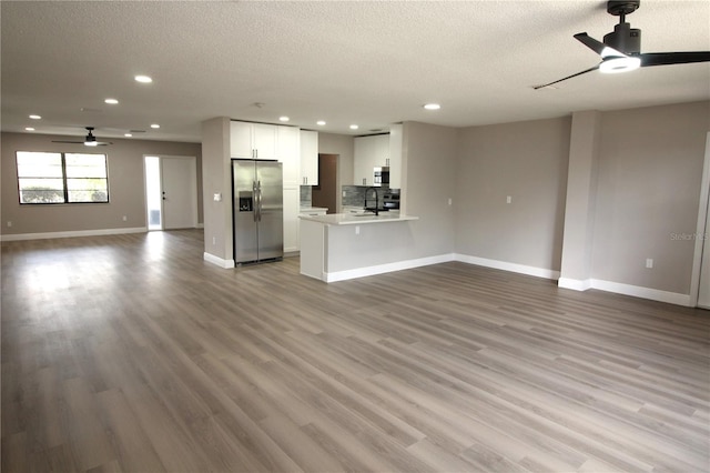
{"label": "stainless steel side-by-side refrigerator with water dispenser", "polygon": [[283,258],[282,182],[280,162],[232,160],[236,264]]}

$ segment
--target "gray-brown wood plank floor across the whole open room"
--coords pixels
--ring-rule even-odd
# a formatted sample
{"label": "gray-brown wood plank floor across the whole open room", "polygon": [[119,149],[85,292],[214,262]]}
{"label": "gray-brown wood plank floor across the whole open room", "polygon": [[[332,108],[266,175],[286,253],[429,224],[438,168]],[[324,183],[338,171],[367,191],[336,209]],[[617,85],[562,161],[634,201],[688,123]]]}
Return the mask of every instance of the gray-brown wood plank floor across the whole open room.
{"label": "gray-brown wood plank floor across the whole open room", "polygon": [[3,472],[699,472],[710,316],[463,263],[325,284],[199,230],[2,243]]}

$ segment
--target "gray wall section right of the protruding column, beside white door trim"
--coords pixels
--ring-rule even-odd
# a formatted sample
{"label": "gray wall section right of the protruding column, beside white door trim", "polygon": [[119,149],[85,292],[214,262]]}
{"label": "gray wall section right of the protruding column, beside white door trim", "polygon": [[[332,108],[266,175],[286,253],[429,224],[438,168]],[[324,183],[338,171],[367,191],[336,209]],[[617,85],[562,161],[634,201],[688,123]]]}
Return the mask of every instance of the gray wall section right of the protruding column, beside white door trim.
{"label": "gray wall section right of the protruding column, beside white door trim", "polygon": [[[688,294],[710,102],[601,114],[592,276]],[[646,259],[655,260],[646,269]]]}

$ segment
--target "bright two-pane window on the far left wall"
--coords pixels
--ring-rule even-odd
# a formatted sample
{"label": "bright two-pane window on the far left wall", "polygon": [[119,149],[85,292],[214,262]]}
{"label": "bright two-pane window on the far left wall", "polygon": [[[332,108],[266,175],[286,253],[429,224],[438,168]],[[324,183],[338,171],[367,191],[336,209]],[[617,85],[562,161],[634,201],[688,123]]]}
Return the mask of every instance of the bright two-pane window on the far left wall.
{"label": "bright two-pane window on the far left wall", "polygon": [[105,154],[18,151],[20,203],[109,202]]}

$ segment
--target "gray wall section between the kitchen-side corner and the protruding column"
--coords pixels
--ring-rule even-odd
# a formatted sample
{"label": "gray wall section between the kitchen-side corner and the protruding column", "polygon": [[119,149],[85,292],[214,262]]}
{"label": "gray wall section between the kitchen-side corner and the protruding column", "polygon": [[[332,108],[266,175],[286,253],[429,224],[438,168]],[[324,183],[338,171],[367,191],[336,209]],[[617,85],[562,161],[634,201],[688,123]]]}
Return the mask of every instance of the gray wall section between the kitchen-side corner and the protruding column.
{"label": "gray wall section between the kitchen-side corner and the protruding column", "polygon": [[456,253],[559,271],[570,123],[460,130]]}

